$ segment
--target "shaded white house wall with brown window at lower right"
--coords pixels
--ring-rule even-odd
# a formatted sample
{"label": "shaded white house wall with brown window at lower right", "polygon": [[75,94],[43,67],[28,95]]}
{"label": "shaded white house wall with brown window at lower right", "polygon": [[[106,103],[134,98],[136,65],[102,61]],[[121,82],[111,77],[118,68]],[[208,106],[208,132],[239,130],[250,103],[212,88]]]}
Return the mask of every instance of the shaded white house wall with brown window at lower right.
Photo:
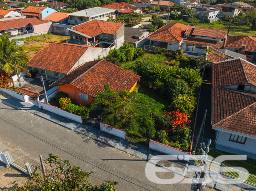
{"label": "shaded white house wall with brown window at lower right", "polygon": [[[232,134],[236,134],[232,132]],[[234,154],[248,154],[250,158],[256,158],[256,140],[247,138],[245,144],[229,141],[230,133],[219,132],[216,139],[215,148],[218,150],[234,153]],[[209,153],[210,155],[210,153]]]}

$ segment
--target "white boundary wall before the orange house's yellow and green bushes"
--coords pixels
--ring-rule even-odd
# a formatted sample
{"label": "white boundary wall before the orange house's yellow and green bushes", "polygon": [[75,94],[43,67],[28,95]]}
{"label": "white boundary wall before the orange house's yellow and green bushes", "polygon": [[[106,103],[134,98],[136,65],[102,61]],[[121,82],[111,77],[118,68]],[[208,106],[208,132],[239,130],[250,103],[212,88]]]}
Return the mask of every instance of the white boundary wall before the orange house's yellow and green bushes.
{"label": "white boundary wall before the orange house's yellow and green bushes", "polygon": [[44,110],[50,111],[52,113],[58,114],[60,116],[66,117],[68,119],[74,120],[76,122],[82,123],[82,117],[81,116],[72,114],[72,113],[67,112],[67,111],[65,111],[63,109],[60,109],[58,107],[55,107],[55,106],[52,106],[52,105],[48,105],[48,104],[40,102],[40,101],[38,102],[38,107],[42,108]]}

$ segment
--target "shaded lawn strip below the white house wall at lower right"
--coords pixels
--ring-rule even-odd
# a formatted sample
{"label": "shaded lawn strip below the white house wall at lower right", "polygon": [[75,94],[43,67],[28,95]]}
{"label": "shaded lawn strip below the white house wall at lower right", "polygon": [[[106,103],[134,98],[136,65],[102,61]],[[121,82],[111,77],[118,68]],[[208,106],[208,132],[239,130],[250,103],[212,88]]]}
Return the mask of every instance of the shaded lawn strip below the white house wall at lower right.
{"label": "shaded lawn strip below the white house wall at lower right", "polygon": [[[225,155],[234,155],[229,152],[213,150],[213,149],[210,149],[210,152],[209,152],[209,156],[212,156],[213,158],[216,158],[216,157],[224,155],[224,154]],[[243,168],[247,169],[249,173],[256,175],[256,166],[255,166],[256,159],[247,158],[247,160],[243,160],[243,161],[235,161],[234,160],[234,161],[225,161],[222,163],[225,163],[226,165],[234,166],[234,167],[236,167],[236,166],[243,167]]]}

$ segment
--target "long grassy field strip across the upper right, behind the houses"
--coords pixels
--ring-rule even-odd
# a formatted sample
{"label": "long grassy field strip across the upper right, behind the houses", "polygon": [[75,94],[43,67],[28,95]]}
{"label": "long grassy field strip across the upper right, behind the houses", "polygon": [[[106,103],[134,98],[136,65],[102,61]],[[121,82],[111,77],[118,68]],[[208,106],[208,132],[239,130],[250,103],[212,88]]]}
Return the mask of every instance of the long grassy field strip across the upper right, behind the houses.
{"label": "long grassy field strip across the upper right, behind the houses", "polygon": [[[188,21],[184,21],[184,20],[173,20],[171,23],[176,23],[179,22],[181,24],[189,24],[190,26],[198,26],[198,27],[209,27],[209,28],[216,28],[216,29],[227,29],[227,25],[228,22],[223,22],[223,24],[221,24],[220,22],[217,22],[216,24],[211,24],[211,23],[198,23],[193,25],[192,23],[188,22]],[[242,26],[236,26],[234,24],[231,24],[230,26],[230,31],[229,31],[230,35],[249,35],[249,36],[256,36],[256,30],[250,30],[250,27],[242,27]]]}

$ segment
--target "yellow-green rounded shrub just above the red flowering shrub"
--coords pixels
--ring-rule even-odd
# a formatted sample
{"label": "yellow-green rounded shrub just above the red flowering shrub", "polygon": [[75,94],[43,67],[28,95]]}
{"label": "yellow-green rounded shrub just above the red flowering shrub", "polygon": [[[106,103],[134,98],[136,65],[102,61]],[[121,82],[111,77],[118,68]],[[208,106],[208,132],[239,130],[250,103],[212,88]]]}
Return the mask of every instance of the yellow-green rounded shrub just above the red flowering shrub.
{"label": "yellow-green rounded shrub just above the red flowering shrub", "polygon": [[196,106],[196,98],[188,95],[179,95],[170,105],[170,110],[180,110],[181,113],[187,113],[188,118],[192,115]]}

